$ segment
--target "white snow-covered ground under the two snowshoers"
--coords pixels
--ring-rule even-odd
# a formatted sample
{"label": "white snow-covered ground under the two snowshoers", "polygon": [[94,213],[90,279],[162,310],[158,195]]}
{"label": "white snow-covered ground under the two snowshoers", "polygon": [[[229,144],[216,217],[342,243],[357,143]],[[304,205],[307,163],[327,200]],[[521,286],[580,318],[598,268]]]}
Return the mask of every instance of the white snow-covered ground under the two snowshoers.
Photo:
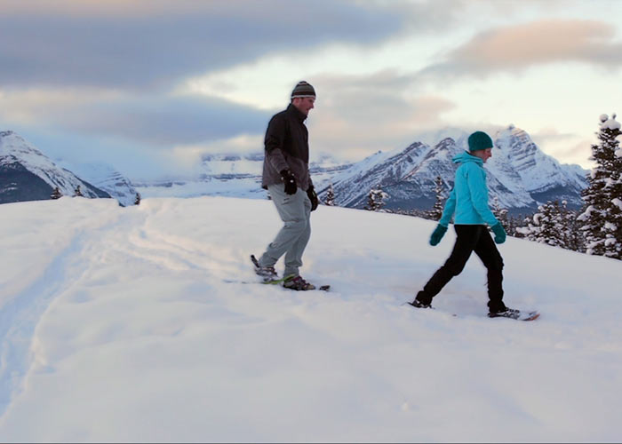
{"label": "white snow-covered ground under the two snowshoers", "polygon": [[0,218],[3,441],[620,440],[618,260],[508,238],[506,304],[542,315],[490,320],[477,258],[436,310],[403,305],[454,240],[419,218],[316,210],[302,272],[328,293],[242,283],[266,200]]}

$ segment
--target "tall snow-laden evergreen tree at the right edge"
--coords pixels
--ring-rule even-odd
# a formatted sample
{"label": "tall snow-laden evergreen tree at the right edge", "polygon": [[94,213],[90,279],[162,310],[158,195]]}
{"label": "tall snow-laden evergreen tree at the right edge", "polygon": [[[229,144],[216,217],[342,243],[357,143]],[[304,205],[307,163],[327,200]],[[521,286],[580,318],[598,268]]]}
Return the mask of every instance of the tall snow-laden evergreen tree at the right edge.
{"label": "tall snow-laden evergreen tree at the right edge", "polygon": [[592,145],[596,165],[583,192],[585,210],[578,217],[586,238],[586,252],[622,259],[622,157],[616,115],[600,117],[599,143]]}

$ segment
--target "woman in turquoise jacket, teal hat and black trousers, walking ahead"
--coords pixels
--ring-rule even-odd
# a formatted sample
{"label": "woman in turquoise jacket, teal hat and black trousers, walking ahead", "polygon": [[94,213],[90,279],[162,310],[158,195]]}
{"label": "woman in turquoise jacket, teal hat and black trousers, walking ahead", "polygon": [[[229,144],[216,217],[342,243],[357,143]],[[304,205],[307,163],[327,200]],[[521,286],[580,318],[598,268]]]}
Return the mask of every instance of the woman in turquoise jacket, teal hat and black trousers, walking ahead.
{"label": "woman in turquoise jacket, teal hat and black trousers, walking ahead", "polygon": [[[488,315],[490,317],[516,318],[518,310],[507,308],[503,303],[503,259],[496,243],[506,241],[506,230],[492,214],[488,206],[488,186],[483,164],[492,156],[492,139],[482,131],[476,131],[468,138],[468,152],[454,156],[454,163],[459,163],[456,179],[445,208],[443,217],[430,237],[430,245],[441,242],[447,231],[451,217],[456,214],[454,228],[456,243],[451,256],[439,268],[426,286],[419,291],[415,300],[410,302],[417,308],[430,308],[432,298],[451,281],[453,276],[462,272],[466,261],[474,251],[482,259],[488,271]],[[488,224],[495,234],[495,240],[488,233]]]}

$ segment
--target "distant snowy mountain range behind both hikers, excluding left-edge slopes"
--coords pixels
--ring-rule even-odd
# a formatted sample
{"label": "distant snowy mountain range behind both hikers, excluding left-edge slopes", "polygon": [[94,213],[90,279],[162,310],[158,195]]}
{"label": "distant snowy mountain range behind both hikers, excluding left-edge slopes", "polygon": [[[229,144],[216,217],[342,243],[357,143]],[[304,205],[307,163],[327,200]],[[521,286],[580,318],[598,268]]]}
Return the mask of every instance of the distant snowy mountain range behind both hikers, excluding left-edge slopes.
{"label": "distant snowy mountain range behind both hikers, excluding left-edge slopes", "polygon": [[[310,164],[315,189],[321,198],[333,186],[335,202],[342,207],[363,208],[371,188],[388,194],[385,208],[428,210],[432,208],[435,180],[441,177],[445,195],[453,186],[457,165],[454,155],[467,149],[468,133],[445,129],[421,134],[409,147],[378,152],[360,162],[339,163],[330,156]],[[510,214],[531,213],[538,205],[566,201],[571,209],[582,206],[581,191],[586,174],[578,165],[559,163],[543,153],[526,131],[513,125],[494,135],[493,156],[485,164],[490,202],[498,202]],[[138,184],[144,195],[223,195],[266,197],[259,186],[263,153],[205,155],[203,175],[193,180]]]}

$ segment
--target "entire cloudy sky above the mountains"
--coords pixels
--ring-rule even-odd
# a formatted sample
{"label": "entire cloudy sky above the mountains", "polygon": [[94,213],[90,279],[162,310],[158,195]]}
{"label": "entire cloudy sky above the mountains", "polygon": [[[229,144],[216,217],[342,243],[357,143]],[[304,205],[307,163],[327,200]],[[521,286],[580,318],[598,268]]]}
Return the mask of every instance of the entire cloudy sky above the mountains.
{"label": "entire cloudy sky above the mountains", "polygon": [[300,80],[312,160],[527,131],[589,168],[622,102],[618,0],[0,0],[0,130],[131,179],[260,152]]}

